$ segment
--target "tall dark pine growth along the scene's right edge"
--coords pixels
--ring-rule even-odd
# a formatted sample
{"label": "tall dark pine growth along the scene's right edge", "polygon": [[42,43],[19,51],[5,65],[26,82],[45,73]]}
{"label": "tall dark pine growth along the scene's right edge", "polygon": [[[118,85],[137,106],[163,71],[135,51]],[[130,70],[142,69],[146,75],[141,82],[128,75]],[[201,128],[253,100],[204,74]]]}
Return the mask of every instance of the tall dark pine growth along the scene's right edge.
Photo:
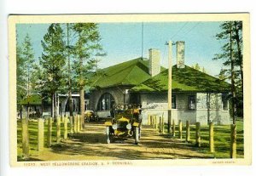
{"label": "tall dark pine growth along the scene's right edge", "polygon": [[[236,123],[237,107],[242,107],[242,23],[241,21],[225,21],[220,25],[221,32],[216,35],[217,40],[224,42],[222,53],[216,54],[213,60],[224,60],[224,68],[220,77],[226,77],[231,82],[231,105],[233,123]],[[237,96],[239,94],[239,96]],[[242,112],[242,111],[241,111]],[[242,114],[241,114],[242,115]]]}

